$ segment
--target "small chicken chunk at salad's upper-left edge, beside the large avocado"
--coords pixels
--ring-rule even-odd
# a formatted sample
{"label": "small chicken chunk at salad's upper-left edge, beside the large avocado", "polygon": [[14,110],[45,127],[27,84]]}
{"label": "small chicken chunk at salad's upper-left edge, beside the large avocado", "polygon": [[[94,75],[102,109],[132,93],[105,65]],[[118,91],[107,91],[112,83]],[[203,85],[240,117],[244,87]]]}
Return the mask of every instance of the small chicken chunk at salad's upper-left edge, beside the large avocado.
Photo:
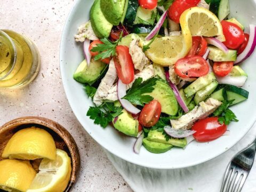
{"label": "small chicken chunk at salad's upper-left edge, beside the large avocado", "polygon": [[90,40],[97,40],[98,37],[94,34],[91,21],[88,21],[78,27],[77,35],[75,35],[76,42],[84,42],[85,38]]}

